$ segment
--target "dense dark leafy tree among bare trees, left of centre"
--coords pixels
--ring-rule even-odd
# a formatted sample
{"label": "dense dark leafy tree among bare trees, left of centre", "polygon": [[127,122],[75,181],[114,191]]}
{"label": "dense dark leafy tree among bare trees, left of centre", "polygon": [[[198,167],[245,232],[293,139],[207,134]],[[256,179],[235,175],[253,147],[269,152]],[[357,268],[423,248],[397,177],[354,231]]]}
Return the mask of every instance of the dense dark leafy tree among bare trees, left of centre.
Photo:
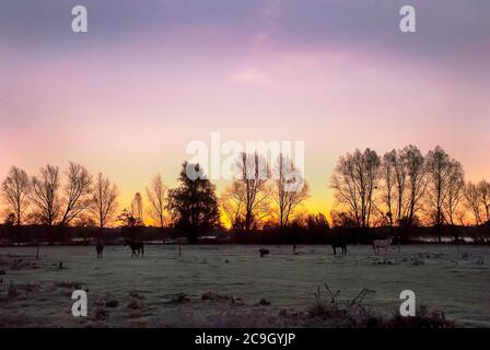
{"label": "dense dark leafy tree among bare trees, left of centre", "polygon": [[[197,174],[197,178],[190,178],[190,172]],[[167,208],[174,217],[175,226],[186,232],[189,241],[196,242],[199,233],[219,224],[215,186],[199,164],[187,162],[183,164],[178,182],[178,187],[168,191]]]}

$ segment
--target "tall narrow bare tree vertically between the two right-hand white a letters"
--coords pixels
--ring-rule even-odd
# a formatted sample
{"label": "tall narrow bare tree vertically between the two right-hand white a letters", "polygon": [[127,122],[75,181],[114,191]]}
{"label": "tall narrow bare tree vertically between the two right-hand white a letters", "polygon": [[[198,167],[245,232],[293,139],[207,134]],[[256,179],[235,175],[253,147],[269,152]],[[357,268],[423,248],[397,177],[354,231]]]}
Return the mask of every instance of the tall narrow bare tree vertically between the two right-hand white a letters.
{"label": "tall narrow bare tree vertically between the two right-hand white a letters", "polygon": [[417,212],[421,208],[421,199],[427,188],[425,161],[420,150],[412,144],[404,148],[400,158],[407,176],[408,198],[404,218],[407,219],[407,230],[409,230],[416,222]]}

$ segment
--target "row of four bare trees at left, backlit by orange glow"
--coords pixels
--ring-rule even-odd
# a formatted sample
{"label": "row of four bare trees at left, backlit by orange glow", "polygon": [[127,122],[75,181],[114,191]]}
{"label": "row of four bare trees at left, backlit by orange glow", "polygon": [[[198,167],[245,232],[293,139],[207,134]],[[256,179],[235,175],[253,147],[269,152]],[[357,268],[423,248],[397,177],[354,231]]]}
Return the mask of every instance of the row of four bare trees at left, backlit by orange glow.
{"label": "row of four bare trees at left, backlit by orange glow", "polygon": [[[63,176],[65,175],[65,176]],[[65,174],[46,165],[30,177],[12,166],[1,184],[7,206],[5,224],[68,226],[110,223],[119,190],[102,173],[95,178],[81,164],[70,163]]]}

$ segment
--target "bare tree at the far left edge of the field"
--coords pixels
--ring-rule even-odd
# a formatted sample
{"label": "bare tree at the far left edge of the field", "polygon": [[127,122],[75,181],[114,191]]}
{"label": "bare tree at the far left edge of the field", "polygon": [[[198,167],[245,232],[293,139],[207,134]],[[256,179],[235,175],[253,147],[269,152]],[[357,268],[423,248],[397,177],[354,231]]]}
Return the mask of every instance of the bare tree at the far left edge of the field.
{"label": "bare tree at the far left edge of the field", "polygon": [[27,174],[16,167],[12,166],[2,182],[2,195],[9,206],[11,212],[15,215],[15,224],[20,226],[23,222],[24,212],[27,209],[30,180]]}

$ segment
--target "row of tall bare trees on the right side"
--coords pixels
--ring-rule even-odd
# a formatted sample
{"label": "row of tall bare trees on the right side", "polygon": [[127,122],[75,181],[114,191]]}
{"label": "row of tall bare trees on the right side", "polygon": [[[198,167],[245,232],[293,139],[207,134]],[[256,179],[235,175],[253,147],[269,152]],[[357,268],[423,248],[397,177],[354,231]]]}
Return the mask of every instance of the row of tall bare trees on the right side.
{"label": "row of tall bare trees on the right side", "polygon": [[439,145],[425,155],[411,144],[383,155],[357,149],[339,158],[330,188],[339,210],[331,217],[340,225],[406,234],[415,225],[433,225],[441,240],[444,225],[490,221],[490,183],[465,182],[463,165]]}

